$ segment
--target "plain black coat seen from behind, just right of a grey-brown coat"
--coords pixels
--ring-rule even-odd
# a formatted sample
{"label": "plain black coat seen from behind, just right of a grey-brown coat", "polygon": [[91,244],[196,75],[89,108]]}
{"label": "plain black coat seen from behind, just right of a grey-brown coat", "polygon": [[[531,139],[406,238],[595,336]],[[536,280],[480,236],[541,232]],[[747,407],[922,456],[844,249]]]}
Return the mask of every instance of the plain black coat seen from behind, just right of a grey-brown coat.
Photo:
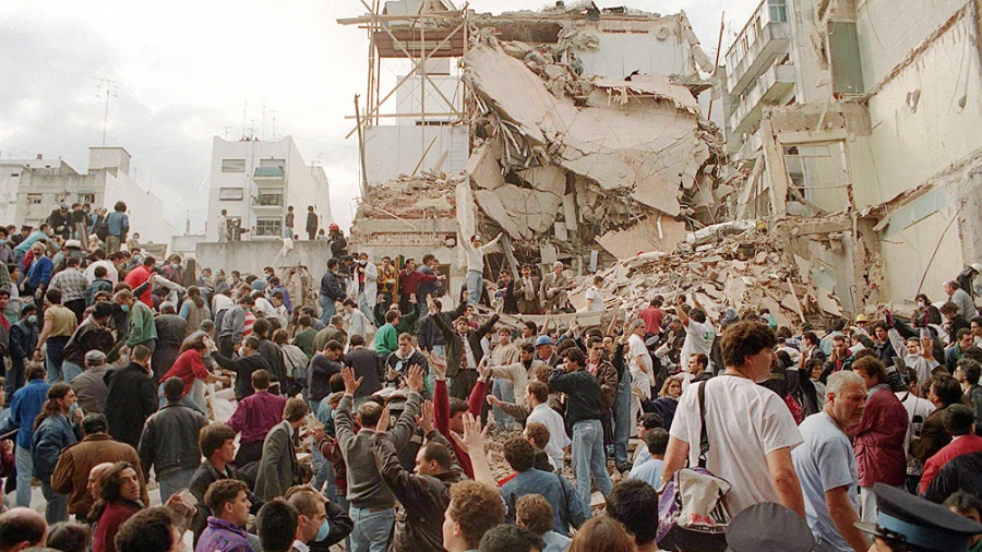
{"label": "plain black coat seen from behind, just right of a grey-brown coat", "polygon": [[[135,362],[109,370],[106,382],[106,419],[112,439],[133,448],[140,445],[143,423],[157,411],[157,391],[146,369]],[[144,469],[148,467],[144,466]]]}

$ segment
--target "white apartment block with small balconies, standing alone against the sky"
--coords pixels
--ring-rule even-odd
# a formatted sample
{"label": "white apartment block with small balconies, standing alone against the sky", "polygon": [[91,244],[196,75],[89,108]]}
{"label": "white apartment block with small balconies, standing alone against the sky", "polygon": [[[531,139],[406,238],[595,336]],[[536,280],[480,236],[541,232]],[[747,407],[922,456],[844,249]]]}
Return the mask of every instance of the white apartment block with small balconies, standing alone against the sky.
{"label": "white apartment block with small balconies, standing alone against the sky", "polygon": [[212,177],[208,191],[207,237],[218,240],[217,220],[221,211],[230,220],[240,220],[249,232],[243,240],[283,238],[287,209],[295,214],[294,232],[307,239],[307,207],[314,206],[319,227],[333,221],[327,175],[308,165],[290,136],[276,141],[212,142]]}

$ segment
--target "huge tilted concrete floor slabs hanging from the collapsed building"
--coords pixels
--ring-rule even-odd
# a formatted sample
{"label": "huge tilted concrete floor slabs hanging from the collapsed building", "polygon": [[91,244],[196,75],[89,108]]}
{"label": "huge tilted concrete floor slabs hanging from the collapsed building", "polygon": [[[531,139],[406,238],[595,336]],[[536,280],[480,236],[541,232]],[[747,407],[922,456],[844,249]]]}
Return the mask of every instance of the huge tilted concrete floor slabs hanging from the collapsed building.
{"label": "huge tilted concrete floor slabs hanging from the collapsed building", "polygon": [[466,175],[480,212],[513,243],[562,259],[597,241],[624,259],[625,238],[634,252],[670,251],[685,219],[724,215],[733,187],[718,187],[720,137],[693,94],[704,83],[586,80],[548,49],[500,44],[487,29],[474,41],[462,59],[479,113]]}

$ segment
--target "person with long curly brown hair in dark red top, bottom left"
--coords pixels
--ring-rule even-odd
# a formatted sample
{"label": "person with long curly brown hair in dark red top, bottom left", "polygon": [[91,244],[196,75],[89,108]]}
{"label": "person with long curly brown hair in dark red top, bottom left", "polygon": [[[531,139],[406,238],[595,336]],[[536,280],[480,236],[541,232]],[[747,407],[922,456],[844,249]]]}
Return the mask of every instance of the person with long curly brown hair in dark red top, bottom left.
{"label": "person with long curly brown hair in dark red top, bottom left", "polygon": [[88,519],[95,521],[92,552],[116,552],[119,527],[146,507],[140,502],[140,477],[132,464],[118,461],[103,473],[99,484],[99,500],[88,514]]}

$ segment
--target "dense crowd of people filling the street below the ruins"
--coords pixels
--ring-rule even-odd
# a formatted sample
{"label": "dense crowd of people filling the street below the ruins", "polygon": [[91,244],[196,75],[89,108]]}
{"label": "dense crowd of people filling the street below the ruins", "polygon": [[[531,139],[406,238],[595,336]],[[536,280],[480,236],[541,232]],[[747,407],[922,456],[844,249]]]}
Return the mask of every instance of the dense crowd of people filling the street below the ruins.
{"label": "dense crowd of people filling the street below the ruins", "polygon": [[455,302],[433,255],[332,227],[301,304],[107,218],[0,229],[0,552],[982,549],[975,268],[906,319],[792,329],[676,290],[580,327],[562,263],[488,286],[498,238],[460,237]]}

